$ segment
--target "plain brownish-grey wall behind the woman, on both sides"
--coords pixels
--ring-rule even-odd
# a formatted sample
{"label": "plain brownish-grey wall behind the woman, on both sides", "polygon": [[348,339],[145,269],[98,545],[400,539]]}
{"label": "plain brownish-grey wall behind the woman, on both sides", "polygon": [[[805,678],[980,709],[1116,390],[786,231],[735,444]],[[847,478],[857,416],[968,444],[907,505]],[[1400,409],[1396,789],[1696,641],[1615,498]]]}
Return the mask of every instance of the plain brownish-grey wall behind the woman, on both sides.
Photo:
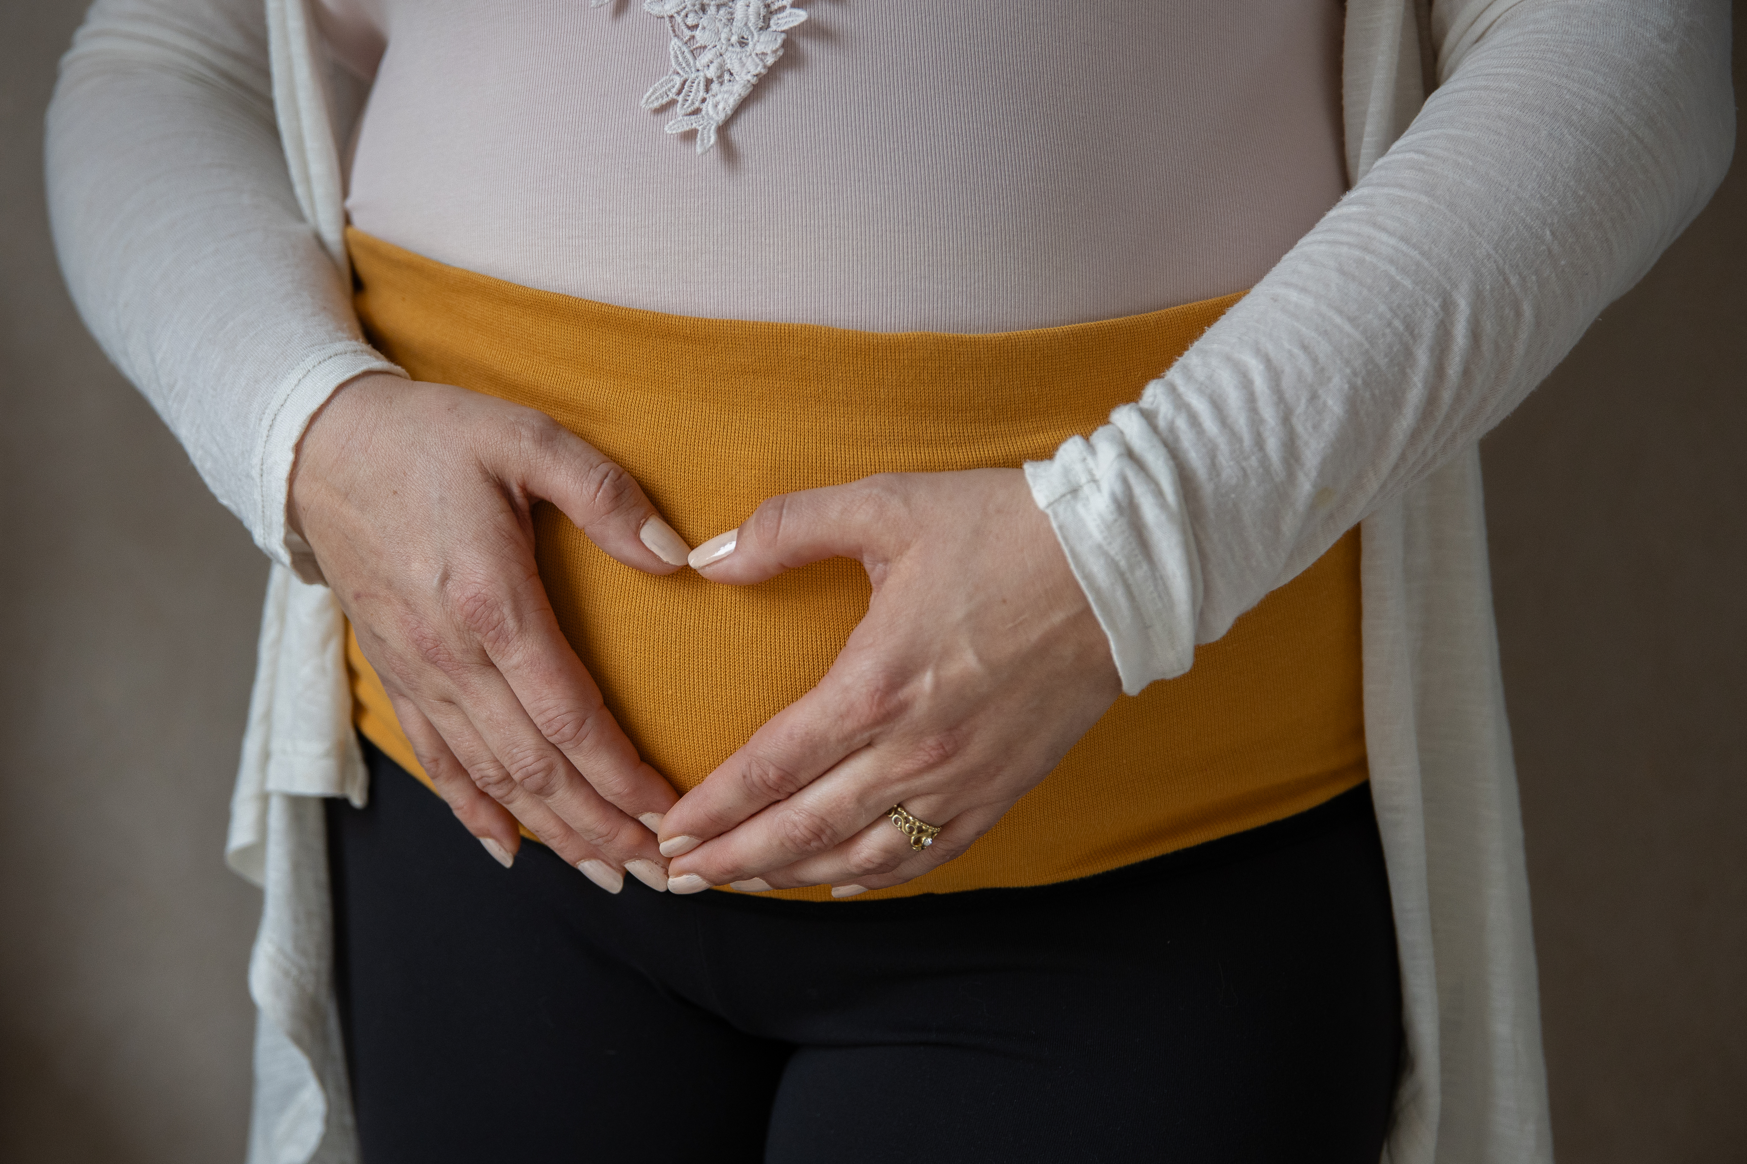
{"label": "plain brownish-grey wall behind the woman, on both sides", "polygon": [[[267,571],[56,274],[42,110],[84,7],[0,3],[0,1159],[236,1161]],[[1744,272],[1737,166],[1485,443],[1567,1164],[1747,1157]]]}

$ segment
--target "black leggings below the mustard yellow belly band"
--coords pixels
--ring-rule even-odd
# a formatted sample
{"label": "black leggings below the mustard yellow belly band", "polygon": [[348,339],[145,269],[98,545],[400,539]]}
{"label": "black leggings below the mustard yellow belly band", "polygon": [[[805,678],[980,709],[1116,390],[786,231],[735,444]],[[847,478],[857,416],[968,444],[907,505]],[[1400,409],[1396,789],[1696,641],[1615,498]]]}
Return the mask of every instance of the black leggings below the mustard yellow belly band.
{"label": "black leggings below the mustard yellow belly band", "polygon": [[503,871],[376,749],[328,801],[365,1164],[1377,1164],[1370,791],[1081,881],[870,902]]}

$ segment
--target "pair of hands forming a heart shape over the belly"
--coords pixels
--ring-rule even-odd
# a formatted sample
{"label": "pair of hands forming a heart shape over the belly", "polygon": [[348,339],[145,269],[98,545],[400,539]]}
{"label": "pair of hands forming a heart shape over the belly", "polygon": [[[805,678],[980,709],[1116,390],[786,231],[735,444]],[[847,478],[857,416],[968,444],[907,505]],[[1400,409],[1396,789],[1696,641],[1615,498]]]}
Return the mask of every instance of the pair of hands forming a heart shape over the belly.
{"label": "pair of hands forming a heart shape over the belly", "polygon": [[[687,562],[620,466],[540,412],[459,387],[358,377],[311,422],[292,480],[293,529],[419,764],[505,864],[521,822],[611,892],[624,873],[673,892],[900,885],[987,832],[1122,689],[1019,469],[786,494],[692,567],[751,585],[856,558],[868,613],[812,691],[680,798],[557,627],[533,553],[542,499],[625,565]],[[933,845],[893,827],[900,803],[942,827]]]}

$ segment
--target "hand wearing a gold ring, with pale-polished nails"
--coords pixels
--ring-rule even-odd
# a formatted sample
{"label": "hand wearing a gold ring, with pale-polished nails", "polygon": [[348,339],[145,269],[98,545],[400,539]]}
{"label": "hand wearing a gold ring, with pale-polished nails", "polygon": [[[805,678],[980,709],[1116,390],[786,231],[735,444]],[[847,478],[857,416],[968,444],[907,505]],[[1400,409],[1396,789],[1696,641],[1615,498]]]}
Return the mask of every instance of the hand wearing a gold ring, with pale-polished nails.
{"label": "hand wearing a gold ring, with pale-polished nails", "polygon": [[[1019,469],[772,497],[692,564],[744,585],[828,557],[867,567],[867,618],[818,688],[666,815],[674,892],[828,883],[847,897],[921,876],[987,832],[1122,691]],[[931,846],[914,852],[886,818],[898,803],[942,825]]]}

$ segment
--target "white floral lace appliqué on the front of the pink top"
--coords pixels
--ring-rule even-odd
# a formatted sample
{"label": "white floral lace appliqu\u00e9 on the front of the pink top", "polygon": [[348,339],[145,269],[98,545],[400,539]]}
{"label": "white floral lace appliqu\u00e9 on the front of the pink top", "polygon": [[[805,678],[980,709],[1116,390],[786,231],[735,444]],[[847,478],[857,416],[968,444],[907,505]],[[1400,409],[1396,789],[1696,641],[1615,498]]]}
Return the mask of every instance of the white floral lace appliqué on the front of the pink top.
{"label": "white floral lace appliqu\u00e9 on the front of the pink top", "polygon": [[[589,7],[610,2],[589,0]],[[716,143],[716,129],[783,56],[788,30],[807,19],[795,0],[643,0],[643,10],[673,30],[673,70],[643,94],[643,108],[678,101],[667,133],[695,129],[699,154]]]}

